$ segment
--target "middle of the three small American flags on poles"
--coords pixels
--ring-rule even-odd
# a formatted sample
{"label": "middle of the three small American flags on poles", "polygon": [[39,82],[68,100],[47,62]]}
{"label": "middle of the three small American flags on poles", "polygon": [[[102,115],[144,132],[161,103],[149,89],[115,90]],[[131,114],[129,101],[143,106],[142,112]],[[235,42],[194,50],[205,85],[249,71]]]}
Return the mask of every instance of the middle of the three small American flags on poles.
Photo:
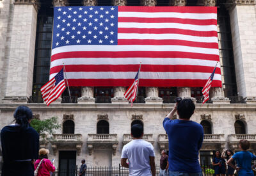
{"label": "middle of the three small American flags on poles", "polygon": [[[137,72],[135,78],[134,78],[134,82],[131,84],[131,86],[129,86],[129,88],[127,88],[126,92],[124,93],[124,97],[125,99],[127,99],[129,102],[134,102],[134,100],[136,99],[137,96],[137,91],[138,91],[138,84],[139,84],[139,74],[140,74],[140,69]],[[132,106],[132,104],[131,104]]]}

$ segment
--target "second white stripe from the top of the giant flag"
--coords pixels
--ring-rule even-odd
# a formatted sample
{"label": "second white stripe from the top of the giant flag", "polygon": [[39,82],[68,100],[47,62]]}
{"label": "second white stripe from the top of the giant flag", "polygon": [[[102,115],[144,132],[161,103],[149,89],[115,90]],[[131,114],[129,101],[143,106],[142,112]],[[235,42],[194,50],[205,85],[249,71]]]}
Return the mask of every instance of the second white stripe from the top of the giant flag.
{"label": "second white stripe from the top of the giant flag", "polygon": [[118,28],[147,28],[147,29],[188,29],[193,31],[217,31],[216,25],[195,25],[195,24],[181,24],[174,22],[118,22]]}

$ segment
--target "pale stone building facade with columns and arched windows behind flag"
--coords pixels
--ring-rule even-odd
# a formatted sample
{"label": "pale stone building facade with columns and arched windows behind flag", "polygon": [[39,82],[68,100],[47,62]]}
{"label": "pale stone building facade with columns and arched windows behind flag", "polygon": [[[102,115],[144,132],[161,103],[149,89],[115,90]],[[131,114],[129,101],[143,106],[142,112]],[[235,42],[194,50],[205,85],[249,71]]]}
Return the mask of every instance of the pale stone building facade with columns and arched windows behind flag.
{"label": "pale stone building facade with columns and arched windows behind flag", "polygon": [[[118,166],[122,147],[131,141],[131,125],[140,123],[144,140],[154,145],[158,163],[160,151],[168,150],[163,118],[173,108],[175,97],[189,97],[196,104],[191,120],[205,131],[201,163],[209,164],[212,150],[239,150],[241,139],[250,140],[255,153],[255,4],[254,0],[0,0],[0,128],[12,123],[17,106],[26,104],[41,120],[58,117],[61,128],[41,136],[40,147],[49,148],[59,168],[66,161],[79,165],[83,158],[88,166]],[[201,88],[140,88],[140,100],[131,108],[124,99],[124,87],[81,87],[74,88],[72,102],[62,97],[47,107],[38,88],[47,81],[40,75],[49,77],[52,6],[68,5],[218,6],[223,88],[212,88],[211,102],[204,106]],[[50,47],[40,46],[47,40]],[[42,79],[40,84],[38,79]]]}

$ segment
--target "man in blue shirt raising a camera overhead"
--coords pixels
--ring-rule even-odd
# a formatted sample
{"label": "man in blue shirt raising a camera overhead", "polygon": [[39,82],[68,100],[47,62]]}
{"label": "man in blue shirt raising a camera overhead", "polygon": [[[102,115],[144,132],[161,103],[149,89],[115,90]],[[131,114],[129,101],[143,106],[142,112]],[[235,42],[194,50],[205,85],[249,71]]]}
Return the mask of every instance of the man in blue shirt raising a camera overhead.
{"label": "man in blue shirt raising a camera overhead", "polygon": [[[177,111],[179,119],[172,120]],[[193,122],[190,117],[195,111],[191,99],[176,103],[172,111],[164,118],[163,126],[169,139],[169,175],[201,176],[198,151],[204,140],[202,125]]]}

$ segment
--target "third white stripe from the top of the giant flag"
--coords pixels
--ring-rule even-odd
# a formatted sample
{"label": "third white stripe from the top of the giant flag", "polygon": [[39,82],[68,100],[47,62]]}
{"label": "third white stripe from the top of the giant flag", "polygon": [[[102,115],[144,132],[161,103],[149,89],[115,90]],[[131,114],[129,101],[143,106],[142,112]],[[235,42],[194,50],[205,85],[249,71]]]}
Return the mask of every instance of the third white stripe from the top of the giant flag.
{"label": "third white stripe from the top of the giant flag", "polygon": [[191,42],[218,43],[217,36],[192,36],[182,34],[118,33],[118,39],[186,40]]}

